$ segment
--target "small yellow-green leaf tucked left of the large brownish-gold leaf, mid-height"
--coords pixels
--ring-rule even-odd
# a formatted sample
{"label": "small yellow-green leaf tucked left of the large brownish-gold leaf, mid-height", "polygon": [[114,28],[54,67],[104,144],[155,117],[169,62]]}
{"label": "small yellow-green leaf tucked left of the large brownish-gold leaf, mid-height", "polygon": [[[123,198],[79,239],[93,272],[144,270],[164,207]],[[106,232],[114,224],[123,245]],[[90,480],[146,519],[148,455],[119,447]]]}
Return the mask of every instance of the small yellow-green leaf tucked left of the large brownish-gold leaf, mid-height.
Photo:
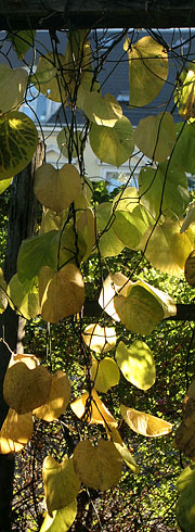
{"label": "small yellow-green leaf tucked left of the large brownish-gold leaf, mid-height", "polygon": [[8,295],[10,306],[20,311],[26,319],[31,319],[40,314],[38,280],[30,279],[25,283],[20,282],[15,274],[9,282]]}

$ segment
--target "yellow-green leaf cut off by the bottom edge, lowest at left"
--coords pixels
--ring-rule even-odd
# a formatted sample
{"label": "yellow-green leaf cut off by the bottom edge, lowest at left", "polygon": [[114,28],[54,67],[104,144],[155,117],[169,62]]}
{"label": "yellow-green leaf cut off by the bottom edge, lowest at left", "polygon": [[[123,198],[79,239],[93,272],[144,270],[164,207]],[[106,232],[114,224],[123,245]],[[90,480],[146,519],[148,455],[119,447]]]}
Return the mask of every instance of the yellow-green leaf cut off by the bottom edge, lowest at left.
{"label": "yellow-green leaf cut off by the bottom edge, lowest at left", "polygon": [[73,501],[73,503],[65,506],[65,508],[53,511],[52,517],[47,514],[40,532],[67,532],[75,521],[76,515],[77,501]]}

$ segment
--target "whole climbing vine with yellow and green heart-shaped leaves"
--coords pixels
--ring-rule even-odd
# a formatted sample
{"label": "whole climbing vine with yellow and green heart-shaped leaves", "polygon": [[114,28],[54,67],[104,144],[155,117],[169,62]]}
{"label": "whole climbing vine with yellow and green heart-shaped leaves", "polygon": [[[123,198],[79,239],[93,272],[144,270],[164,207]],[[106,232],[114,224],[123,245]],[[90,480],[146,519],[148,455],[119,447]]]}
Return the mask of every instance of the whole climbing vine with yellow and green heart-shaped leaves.
{"label": "whole climbing vine with yellow and green heart-shaped leaves", "polygon": [[[23,241],[17,271],[8,286],[1,271],[0,309],[3,313],[9,304],[26,320],[36,322],[41,317],[48,327],[73,319],[82,389],[78,393],[68,372],[61,367],[53,372],[50,360],[47,367],[37,353],[12,353],[3,381],[9,410],[0,431],[0,452],[23,449],[32,436],[35,419],[52,423],[66,409],[68,423],[72,416],[77,419],[73,452],[62,453],[61,461],[48,455],[42,465],[46,514],[40,530],[65,532],[76,518],[81,484],[106,491],[119,483],[123,465],[131,474],[141,470],[120,435],[122,420],[131,431],[150,439],[169,438],[172,431],[170,419],[138,410],[127,396],[114,415],[106,394],[120,378],[129,387],[153,393],[155,353],[147,338],[162,320],[178,319],[177,301],[144,279],[144,259],[179,280],[185,274],[186,282],[195,284],[195,205],[186,177],[195,172],[195,63],[192,54],[190,61],[187,54],[179,54],[173,41],[168,45],[157,30],[144,37],[121,30],[109,42],[107,31],[99,38],[96,31],[69,29],[66,35],[51,35],[50,50],[43,51],[39,39],[31,30],[11,33],[3,39],[3,45],[10,42],[15,50],[21,66],[14,67],[9,60],[0,64],[2,191],[30,162],[40,134],[41,141],[46,140],[40,123],[38,135],[30,106],[37,98],[35,87],[62,105],[60,159],[56,167],[44,162],[36,170],[34,191],[42,205],[42,219],[35,236]],[[58,52],[58,39],[64,42],[64,53]],[[130,111],[153,106],[168,83],[169,68],[173,62],[179,65],[164,110],[154,115],[145,107],[146,115],[136,128],[113,94],[102,94],[102,71],[118,42],[123,47],[118,61],[129,69]],[[21,111],[24,102],[35,121]],[[173,119],[176,109],[179,123]],[[129,177],[110,201],[99,203],[94,195],[86,173],[88,142],[103,163],[120,167],[129,162]],[[135,150],[140,155],[138,179],[132,166]],[[62,155],[67,162],[60,165]],[[118,256],[127,250],[133,254],[133,268],[127,261],[119,269]],[[87,269],[93,257],[99,302],[95,297],[90,302],[89,319]],[[66,356],[69,360],[70,354],[64,353]],[[174,445],[192,463],[194,394],[192,381],[174,436]],[[186,532],[195,525],[194,482],[192,464],[178,480],[176,511]]]}

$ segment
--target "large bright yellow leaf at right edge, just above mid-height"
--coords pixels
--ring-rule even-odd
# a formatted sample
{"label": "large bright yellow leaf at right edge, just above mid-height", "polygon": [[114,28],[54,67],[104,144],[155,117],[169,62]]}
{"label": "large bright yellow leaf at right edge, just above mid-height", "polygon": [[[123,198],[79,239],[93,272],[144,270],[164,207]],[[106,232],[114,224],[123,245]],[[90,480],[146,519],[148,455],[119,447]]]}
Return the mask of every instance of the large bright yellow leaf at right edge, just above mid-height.
{"label": "large bright yellow leaf at right edge, just above mid-height", "polygon": [[194,249],[191,228],[181,235],[181,226],[182,221],[167,218],[155,230],[148,228],[141,241],[141,249],[145,251],[147,261],[155,268],[174,276],[181,276],[185,261]]}

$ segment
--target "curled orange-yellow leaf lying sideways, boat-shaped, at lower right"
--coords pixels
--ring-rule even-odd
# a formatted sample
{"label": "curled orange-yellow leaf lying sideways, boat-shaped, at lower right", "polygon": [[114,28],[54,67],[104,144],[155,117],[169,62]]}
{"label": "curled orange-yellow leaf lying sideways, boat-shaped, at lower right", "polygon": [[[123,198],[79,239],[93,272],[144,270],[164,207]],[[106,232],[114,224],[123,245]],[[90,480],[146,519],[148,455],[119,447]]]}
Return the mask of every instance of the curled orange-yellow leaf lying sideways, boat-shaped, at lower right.
{"label": "curled orange-yellow leaf lying sideways, boat-shaped, at lower right", "polygon": [[164,419],[156,418],[151,414],[134,410],[125,405],[120,405],[120,411],[126,423],[138,434],[156,438],[169,434],[172,430],[171,423],[168,423]]}

